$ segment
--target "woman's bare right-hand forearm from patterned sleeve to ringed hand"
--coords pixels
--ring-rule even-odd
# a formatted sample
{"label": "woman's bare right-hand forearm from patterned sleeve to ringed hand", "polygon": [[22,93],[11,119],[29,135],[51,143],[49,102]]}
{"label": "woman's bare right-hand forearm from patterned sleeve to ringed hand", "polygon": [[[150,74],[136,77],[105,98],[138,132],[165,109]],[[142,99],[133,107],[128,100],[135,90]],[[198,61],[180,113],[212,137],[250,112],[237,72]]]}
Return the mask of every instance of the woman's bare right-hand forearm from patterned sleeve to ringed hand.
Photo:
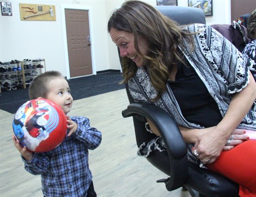
{"label": "woman's bare right-hand forearm from patterned sleeve to ringed hand", "polygon": [[230,135],[252,106],[256,98],[256,85],[250,72],[249,75],[249,83],[241,92],[235,93],[221,122],[210,132],[199,136],[195,143],[194,147],[201,154],[198,157],[201,161],[210,159],[213,163],[219,157]]}

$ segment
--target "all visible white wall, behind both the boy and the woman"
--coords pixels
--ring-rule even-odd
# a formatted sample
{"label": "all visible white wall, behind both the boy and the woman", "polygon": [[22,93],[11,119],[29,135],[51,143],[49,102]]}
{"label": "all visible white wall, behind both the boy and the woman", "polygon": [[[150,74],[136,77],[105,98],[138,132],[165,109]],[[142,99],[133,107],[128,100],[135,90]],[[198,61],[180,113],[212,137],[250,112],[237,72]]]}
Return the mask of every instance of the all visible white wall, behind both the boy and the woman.
{"label": "all visible white wall, behind both the boy and the woman", "polygon": [[[113,9],[125,0],[55,0],[55,1],[7,1],[12,4],[12,16],[0,16],[0,61],[14,59],[45,58],[47,70],[58,70],[67,76],[65,60],[65,37],[61,6],[90,7],[93,27],[93,65],[96,71],[119,70],[120,63],[116,46],[107,32],[107,21]],[[74,3],[76,2],[76,3]],[[156,6],[156,0],[144,1]],[[213,16],[206,22],[229,24],[230,0],[212,0]],[[19,3],[54,5],[56,21],[24,21],[19,16]],[[187,0],[178,0],[179,6],[188,6]]]}

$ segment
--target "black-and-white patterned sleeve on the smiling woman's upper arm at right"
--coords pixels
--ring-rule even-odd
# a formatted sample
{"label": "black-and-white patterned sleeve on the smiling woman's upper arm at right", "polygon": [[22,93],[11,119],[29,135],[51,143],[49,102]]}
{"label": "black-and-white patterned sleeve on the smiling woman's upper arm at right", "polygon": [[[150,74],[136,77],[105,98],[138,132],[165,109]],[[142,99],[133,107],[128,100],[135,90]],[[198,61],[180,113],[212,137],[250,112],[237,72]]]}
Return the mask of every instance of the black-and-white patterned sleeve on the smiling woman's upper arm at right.
{"label": "black-and-white patterned sleeve on the smiling woman's upper arm at right", "polygon": [[229,94],[240,92],[249,83],[251,61],[215,29],[206,26],[208,48],[218,73],[225,79]]}

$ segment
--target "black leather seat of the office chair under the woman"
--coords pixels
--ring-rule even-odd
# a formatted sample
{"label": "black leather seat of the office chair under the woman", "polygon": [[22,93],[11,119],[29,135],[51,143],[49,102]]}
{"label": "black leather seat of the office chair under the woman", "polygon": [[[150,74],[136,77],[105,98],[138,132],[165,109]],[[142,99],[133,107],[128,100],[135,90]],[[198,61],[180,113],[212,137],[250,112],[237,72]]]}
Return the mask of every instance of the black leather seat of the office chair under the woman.
{"label": "black leather seat of the office chair under the woman", "polygon": [[[170,176],[170,162],[167,153],[155,150],[147,160]],[[182,177],[182,176],[181,176]],[[203,183],[203,184],[202,184]],[[225,185],[225,186],[224,186]],[[184,186],[211,197],[239,197],[239,184],[198,165],[188,164],[188,176]]]}

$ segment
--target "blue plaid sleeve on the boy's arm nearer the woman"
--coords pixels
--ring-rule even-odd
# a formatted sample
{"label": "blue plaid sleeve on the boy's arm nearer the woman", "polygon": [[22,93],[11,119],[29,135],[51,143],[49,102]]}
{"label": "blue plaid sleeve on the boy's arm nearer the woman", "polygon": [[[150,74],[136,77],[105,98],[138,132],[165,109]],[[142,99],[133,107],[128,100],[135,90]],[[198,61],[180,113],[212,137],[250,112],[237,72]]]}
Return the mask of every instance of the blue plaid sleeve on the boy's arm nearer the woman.
{"label": "blue plaid sleeve on the boy's arm nearer the woman", "polygon": [[76,140],[83,142],[88,149],[95,149],[101,144],[102,133],[90,126],[86,117],[70,117],[77,124],[77,130],[71,135]]}

